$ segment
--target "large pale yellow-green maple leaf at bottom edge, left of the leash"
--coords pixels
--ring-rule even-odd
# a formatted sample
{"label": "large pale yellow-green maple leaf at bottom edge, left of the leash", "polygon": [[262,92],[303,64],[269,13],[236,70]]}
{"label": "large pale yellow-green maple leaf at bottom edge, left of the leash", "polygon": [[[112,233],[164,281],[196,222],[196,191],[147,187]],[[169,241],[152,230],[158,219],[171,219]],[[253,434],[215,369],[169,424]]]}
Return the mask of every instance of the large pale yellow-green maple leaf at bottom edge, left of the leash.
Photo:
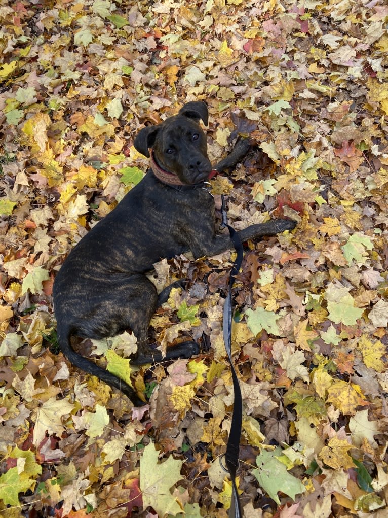
{"label": "large pale yellow-green maple leaf at bottom edge, left of the leash", "polygon": [[173,457],[158,464],[158,452],[152,442],[148,444],[140,459],[140,489],[143,492],[144,509],[151,506],[159,516],[182,512],[177,498],[171,494],[171,488],[183,479],[181,468],[183,461]]}

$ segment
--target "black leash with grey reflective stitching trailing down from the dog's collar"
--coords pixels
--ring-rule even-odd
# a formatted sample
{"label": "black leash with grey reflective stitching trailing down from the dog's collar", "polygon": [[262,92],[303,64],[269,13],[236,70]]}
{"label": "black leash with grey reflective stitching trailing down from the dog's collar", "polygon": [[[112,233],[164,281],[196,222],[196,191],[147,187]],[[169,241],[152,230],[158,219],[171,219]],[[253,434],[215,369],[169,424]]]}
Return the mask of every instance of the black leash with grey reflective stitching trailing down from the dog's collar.
{"label": "black leash with grey reflective stitching trailing down from the dog's collar", "polygon": [[233,360],[232,360],[232,286],[235,280],[238,271],[240,271],[242,262],[243,262],[243,246],[241,244],[240,238],[238,237],[237,232],[228,225],[228,217],[226,211],[226,196],[221,196],[222,206],[222,224],[221,227],[227,227],[229,230],[230,238],[233,241],[234,248],[237,253],[237,257],[234,261],[232,270],[230,272],[229,278],[229,293],[225,300],[225,305],[223,307],[223,341],[225,342],[225,349],[228,353],[228,359],[232,372],[232,380],[233,380],[233,390],[234,390],[234,406],[233,406],[233,415],[232,415],[232,424],[230,427],[229,439],[227,444],[227,451],[225,454],[225,464],[227,470],[229,471],[231,481],[232,481],[232,501],[229,510],[229,518],[241,518],[243,513],[241,511],[240,499],[238,498],[237,486],[236,486],[236,471],[238,467],[238,450],[240,448],[240,437],[241,437],[241,428],[243,421],[243,401],[241,397],[240,384],[238,383],[238,378],[236,375],[236,371],[234,370]]}

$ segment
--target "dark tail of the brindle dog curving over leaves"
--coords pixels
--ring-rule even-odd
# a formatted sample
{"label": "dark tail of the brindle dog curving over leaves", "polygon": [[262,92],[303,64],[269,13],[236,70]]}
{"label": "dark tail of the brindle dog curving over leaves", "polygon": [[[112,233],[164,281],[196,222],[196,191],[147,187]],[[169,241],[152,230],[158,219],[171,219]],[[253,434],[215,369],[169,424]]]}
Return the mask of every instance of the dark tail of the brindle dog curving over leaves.
{"label": "dark tail of the brindle dog curving over leaves", "polygon": [[137,396],[136,392],[125,381],[121,380],[108,370],[102,369],[91,360],[74,351],[74,349],[71,347],[70,336],[71,329],[68,329],[60,324],[57,325],[57,338],[59,347],[70,363],[79,369],[82,369],[85,372],[96,376],[98,379],[108,383],[108,385],[121,390],[126,396],[129,397],[133,405],[144,405],[144,401],[142,401]]}

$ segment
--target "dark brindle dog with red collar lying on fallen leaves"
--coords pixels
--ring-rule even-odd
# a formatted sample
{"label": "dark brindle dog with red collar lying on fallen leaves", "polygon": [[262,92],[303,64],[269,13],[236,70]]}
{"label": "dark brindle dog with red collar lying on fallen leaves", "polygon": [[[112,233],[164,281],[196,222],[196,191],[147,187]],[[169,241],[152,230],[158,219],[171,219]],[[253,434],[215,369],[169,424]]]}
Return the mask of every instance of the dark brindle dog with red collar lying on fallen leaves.
{"label": "dark brindle dog with red collar lying on fallen leaves", "polygon": [[[131,363],[162,360],[148,341],[148,326],[171,286],[157,295],[145,272],[162,258],[191,251],[195,258],[232,248],[229,236],[215,233],[213,197],[205,189],[212,174],[203,102],[187,103],[176,116],[143,128],[133,145],[151,157],[151,169],[105,218],[70,252],[56,275],[53,302],[57,339],[66,358],[80,369],[120,389],[133,402],[144,402],[124,381],[74,351],[70,338],[101,339],[130,328],[137,338]],[[247,139],[221,161],[218,171],[234,166],[248,150]],[[242,242],[294,228],[291,220],[273,220],[238,232]],[[198,343],[185,341],[167,349],[165,359],[199,353]]]}

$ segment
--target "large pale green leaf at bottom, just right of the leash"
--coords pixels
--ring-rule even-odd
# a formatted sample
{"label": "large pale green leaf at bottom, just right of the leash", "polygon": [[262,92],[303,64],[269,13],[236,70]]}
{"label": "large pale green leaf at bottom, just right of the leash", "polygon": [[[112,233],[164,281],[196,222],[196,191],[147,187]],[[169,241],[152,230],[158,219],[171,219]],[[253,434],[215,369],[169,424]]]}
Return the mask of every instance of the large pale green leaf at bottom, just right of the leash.
{"label": "large pale green leaf at bottom, just right of the leash", "polygon": [[293,477],[287,471],[286,466],[278,461],[276,456],[280,454],[279,448],[272,452],[263,450],[256,457],[258,469],[252,470],[252,474],[256,477],[260,486],[278,505],[280,505],[277,496],[279,492],[285,493],[294,500],[296,494],[304,493],[306,490],[302,482]]}

